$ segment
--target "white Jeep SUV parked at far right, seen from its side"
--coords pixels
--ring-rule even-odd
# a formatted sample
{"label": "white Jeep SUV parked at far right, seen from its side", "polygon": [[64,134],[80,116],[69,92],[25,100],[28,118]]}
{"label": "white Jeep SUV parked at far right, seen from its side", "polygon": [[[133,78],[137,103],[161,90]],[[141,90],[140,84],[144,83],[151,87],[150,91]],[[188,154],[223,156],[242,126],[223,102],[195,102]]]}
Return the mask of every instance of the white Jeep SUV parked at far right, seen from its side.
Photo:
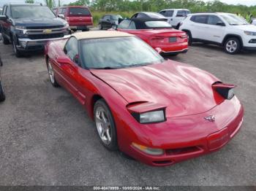
{"label": "white Jeep SUV parked at far right, seen from its side", "polygon": [[189,44],[218,44],[229,54],[256,50],[256,26],[231,13],[191,14],[182,21],[179,29],[187,32]]}

